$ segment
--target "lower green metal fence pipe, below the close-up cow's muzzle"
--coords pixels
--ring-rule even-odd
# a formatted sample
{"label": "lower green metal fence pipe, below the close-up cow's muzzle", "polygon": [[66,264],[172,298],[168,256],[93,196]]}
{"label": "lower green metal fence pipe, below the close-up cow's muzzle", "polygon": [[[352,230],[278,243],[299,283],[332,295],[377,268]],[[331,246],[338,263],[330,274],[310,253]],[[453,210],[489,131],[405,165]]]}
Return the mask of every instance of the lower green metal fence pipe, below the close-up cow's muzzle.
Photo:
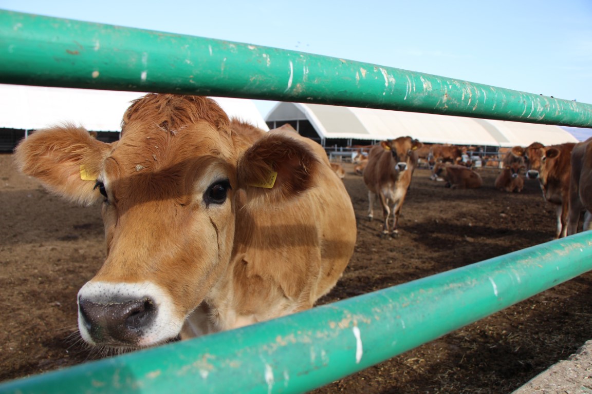
{"label": "lower green metal fence pipe, below the close-up cow's muzzle", "polygon": [[1,393],[300,393],[592,269],[592,232],[284,318],[0,385]]}

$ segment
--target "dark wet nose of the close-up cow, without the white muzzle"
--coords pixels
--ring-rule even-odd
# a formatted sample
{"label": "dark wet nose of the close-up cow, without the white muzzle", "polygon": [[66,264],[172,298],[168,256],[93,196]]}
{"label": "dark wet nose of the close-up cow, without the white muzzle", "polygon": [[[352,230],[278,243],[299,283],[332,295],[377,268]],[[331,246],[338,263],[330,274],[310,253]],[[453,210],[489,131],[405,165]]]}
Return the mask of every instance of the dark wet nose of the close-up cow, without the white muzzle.
{"label": "dark wet nose of the close-up cow, without the white muzzle", "polygon": [[134,344],[156,318],[156,306],[149,297],[118,302],[80,298],[78,307],[82,323],[97,343],[115,340]]}

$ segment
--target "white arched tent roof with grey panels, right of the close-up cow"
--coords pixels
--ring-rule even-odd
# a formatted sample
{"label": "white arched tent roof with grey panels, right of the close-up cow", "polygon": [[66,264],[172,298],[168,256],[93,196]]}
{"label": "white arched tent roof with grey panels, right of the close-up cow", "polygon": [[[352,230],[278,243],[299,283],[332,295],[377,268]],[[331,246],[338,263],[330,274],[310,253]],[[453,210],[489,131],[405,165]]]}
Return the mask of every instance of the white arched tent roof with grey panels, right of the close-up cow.
{"label": "white arched tent roof with grey panels, right of the close-up cow", "polygon": [[409,135],[422,142],[527,146],[577,142],[559,126],[369,108],[278,103],[266,121],[308,120],[321,138],[381,140]]}

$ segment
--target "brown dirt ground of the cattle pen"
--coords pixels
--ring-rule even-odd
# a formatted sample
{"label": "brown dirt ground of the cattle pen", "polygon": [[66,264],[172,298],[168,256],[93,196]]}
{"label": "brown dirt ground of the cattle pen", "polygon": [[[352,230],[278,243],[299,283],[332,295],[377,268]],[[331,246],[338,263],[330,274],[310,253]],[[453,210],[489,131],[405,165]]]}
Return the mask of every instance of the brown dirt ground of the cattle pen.
{"label": "brown dirt ground of the cattle pen", "polygon": [[[554,209],[535,181],[520,194],[450,190],[417,170],[400,236],[366,219],[362,178],[346,164],[358,243],[342,280],[321,302],[412,281],[552,239]],[[76,334],[76,293],[104,258],[100,208],[50,196],[0,155],[0,381],[99,357]],[[510,393],[592,338],[592,273],[314,393]]]}

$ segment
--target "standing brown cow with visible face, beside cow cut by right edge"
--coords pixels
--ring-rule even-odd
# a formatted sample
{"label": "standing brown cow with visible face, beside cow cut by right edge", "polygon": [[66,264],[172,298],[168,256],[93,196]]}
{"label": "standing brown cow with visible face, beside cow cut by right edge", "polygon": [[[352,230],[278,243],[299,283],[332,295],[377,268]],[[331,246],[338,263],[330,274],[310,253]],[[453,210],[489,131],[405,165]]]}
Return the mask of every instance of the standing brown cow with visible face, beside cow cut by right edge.
{"label": "standing brown cow with visible face, beside cow cut by right edge", "polygon": [[[535,145],[536,144],[536,145]],[[555,205],[557,229],[555,238],[567,235],[570,203],[571,151],[573,142],[543,146],[538,142],[525,149],[529,178],[538,178],[543,198]]]}

